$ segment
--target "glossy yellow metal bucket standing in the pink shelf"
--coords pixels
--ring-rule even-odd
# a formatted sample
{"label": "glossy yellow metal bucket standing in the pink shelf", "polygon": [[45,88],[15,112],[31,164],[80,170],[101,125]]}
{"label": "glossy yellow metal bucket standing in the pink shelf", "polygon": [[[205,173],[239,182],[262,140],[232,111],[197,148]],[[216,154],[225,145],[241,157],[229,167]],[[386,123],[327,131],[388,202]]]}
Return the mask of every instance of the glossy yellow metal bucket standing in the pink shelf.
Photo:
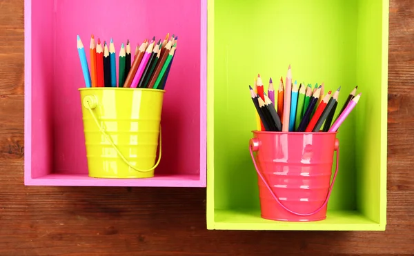
{"label": "glossy yellow metal bucket standing in the pink shelf", "polygon": [[161,160],[165,90],[94,87],[79,91],[89,176],[154,177]]}

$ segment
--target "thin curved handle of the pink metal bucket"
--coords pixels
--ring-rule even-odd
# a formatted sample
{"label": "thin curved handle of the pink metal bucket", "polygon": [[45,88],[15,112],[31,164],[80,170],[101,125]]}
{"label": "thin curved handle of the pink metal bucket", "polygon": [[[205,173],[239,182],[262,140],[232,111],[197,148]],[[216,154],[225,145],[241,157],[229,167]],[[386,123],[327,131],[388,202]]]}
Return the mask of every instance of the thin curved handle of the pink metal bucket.
{"label": "thin curved handle of the pink metal bucket", "polygon": [[260,173],[259,168],[257,168],[256,160],[255,160],[255,157],[253,156],[253,151],[259,150],[259,141],[257,139],[250,139],[249,150],[250,150],[250,156],[253,159],[253,164],[255,165],[257,175],[259,175],[260,179],[262,179],[262,181],[266,185],[266,188],[268,188],[268,190],[270,191],[270,194],[272,195],[272,197],[277,201],[277,204],[282,206],[282,208],[287,210],[289,213],[292,213],[294,215],[299,215],[299,216],[311,216],[311,215],[314,215],[315,213],[318,213],[320,210],[322,210],[322,208],[324,208],[326,206],[326,204],[328,204],[328,200],[329,200],[329,197],[331,197],[333,184],[335,184],[335,178],[336,178],[336,175],[337,175],[337,172],[338,172],[338,163],[339,163],[339,140],[338,139],[335,139],[335,148],[334,148],[334,150],[336,151],[337,156],[336,156],[335,174],[333,175],[331,186],[329,187],[328,194],[326,195],[326,199],[324,201],[324,204],[322,204],[322,206],[317,208],[317,210],[313,211],[312,213],[296,213],[295,211],[286,208],[286,206],[284,206],[282,204],[282,202],[279,201],[279,198],[277,198],[277,196],[273,192],[272,188],[270,188],[268,182],[266,181],[266,179],[264,179],[262,173]]}

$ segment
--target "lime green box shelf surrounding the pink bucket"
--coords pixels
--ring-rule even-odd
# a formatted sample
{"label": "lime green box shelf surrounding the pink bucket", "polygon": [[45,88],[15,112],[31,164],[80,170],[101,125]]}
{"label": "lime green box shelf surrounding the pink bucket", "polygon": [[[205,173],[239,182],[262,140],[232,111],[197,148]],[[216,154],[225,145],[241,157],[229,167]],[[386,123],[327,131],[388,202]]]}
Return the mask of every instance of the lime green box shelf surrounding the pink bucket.
{"label": "lime green box shelf surrounding the pink bucket", "polygon": [[[385,229],[388,5],[388,0],[208,0],[208,229]],[[265,88],[272,77],[277,90],[289,64],[293,81],[324,82],[326,91],[341,86],[337,111],[355,86],[362,92],[339,128],[339,171],[323,221],[260,217],[248,152],[255,130],[248,85],[259,73]]]}

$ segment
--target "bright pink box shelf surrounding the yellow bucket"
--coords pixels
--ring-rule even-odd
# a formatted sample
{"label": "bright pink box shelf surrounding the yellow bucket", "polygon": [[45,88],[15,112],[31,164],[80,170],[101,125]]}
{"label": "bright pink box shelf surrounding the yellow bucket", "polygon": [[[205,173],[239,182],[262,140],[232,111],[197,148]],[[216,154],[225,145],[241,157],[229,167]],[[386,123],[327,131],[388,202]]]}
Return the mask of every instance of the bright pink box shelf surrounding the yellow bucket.
{"label": "bright pink box shelf surrounding the yellow bucket", "polygon": [[[206,186],[206,0],[25,0],[25,184]],[[88,177],[77,35],[137,43],[178,36],[166,84],[161,164],[150,179]],[[89,59],[88,59],[89,61]],[[89,62],[88,62],[89,63]]]}

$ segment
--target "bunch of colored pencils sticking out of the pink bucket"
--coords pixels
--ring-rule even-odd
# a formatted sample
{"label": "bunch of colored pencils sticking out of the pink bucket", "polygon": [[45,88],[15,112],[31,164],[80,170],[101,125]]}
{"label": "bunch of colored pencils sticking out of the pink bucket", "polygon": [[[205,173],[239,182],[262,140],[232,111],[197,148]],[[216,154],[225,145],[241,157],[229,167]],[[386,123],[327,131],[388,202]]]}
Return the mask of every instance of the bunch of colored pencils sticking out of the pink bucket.
{"label": "bunch of colored pencils sticking out of the pink bucket", "polygon": [[262,131],[336,132],[361,97],[361,93],[355,96],[358,88],[356,86],[333,121],[341,87],[339,86],[333,95],[331,90],[324,95],[324,83],[320,86],[316,83],[314,88],[310,83],[299,83],[297,86],[297,81],[292,82],[290,65],[285,85],[283,77],[280,78],[277,97],[272,78],[269,80],[267,95],[260,75],[255,78],[253,88],[249,88],[257,111],[257,130]]}

